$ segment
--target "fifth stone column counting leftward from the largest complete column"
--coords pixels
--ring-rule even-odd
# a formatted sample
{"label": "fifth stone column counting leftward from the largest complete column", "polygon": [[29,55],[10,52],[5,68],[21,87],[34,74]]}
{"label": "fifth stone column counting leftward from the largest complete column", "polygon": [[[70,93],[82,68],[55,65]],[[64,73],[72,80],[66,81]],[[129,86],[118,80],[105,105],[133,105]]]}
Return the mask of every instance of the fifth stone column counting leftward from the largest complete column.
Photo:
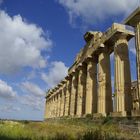
{"label": "fifth stone column counting leftward from the largest complete column", "polygon": [[70,102],[70,116],[74,116],[76,114],[76,106],[77,106],[77,72],[73,73],[72,76],[72,89],[71,89],[71,102]]}

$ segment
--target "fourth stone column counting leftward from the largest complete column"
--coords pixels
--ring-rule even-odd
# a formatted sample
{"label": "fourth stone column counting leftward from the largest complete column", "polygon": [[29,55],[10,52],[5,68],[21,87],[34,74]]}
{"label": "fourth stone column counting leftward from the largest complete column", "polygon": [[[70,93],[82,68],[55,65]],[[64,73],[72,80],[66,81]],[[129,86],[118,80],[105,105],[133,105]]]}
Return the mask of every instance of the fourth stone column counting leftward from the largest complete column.
{"label": "fourth stone column counting leftward from the largest complete column", "polygon": [[85,114],[86,97],[86,65],[78,67],[78,87],[77,87],[77,111],[76,115],[81,117]]}

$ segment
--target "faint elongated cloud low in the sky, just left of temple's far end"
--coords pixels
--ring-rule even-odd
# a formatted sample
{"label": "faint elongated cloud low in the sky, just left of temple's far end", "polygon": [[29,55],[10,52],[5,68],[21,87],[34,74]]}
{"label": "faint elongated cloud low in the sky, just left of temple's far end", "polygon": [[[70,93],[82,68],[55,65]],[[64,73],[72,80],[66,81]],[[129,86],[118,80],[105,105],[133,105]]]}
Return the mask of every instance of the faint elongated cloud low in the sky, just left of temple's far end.
{"label": "faint elongated cloud low in the sky, just left of temple's far end", "polygon": [[45,91],[43,91],[38,85],[31,82],[23,82],[22,87],[30,94],[34,96],[43,97],[45,95]]}

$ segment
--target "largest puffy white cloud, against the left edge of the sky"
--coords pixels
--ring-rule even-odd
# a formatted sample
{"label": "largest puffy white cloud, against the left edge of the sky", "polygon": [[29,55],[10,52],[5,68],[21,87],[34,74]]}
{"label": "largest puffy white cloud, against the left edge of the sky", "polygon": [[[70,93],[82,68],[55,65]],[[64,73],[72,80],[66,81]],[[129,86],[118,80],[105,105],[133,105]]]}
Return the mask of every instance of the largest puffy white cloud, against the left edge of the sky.
{"label": "largest puffy white cloud, against the left edge of the sky", "polygon": [[46,66],[41,51],[49,49],[52,41],[43,30],[22,19],[0,11],[0,73],[10,73],[22,67]]}

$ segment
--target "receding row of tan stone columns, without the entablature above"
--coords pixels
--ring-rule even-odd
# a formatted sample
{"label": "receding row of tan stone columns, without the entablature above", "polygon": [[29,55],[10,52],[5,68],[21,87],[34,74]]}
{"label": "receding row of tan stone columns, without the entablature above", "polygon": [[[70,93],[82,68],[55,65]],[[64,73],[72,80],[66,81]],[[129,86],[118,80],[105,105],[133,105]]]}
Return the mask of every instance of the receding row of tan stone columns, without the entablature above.
{"label": "receding row of tan stone columns, without the entablature above", "polygon": [[[109,47],[100,49],[49,91],[46,99],[46,118],[86,114],[109,115],[113,112]],[[131,75],[127,35],[114,43],[115,110],[126,116],[131,112]]]}

